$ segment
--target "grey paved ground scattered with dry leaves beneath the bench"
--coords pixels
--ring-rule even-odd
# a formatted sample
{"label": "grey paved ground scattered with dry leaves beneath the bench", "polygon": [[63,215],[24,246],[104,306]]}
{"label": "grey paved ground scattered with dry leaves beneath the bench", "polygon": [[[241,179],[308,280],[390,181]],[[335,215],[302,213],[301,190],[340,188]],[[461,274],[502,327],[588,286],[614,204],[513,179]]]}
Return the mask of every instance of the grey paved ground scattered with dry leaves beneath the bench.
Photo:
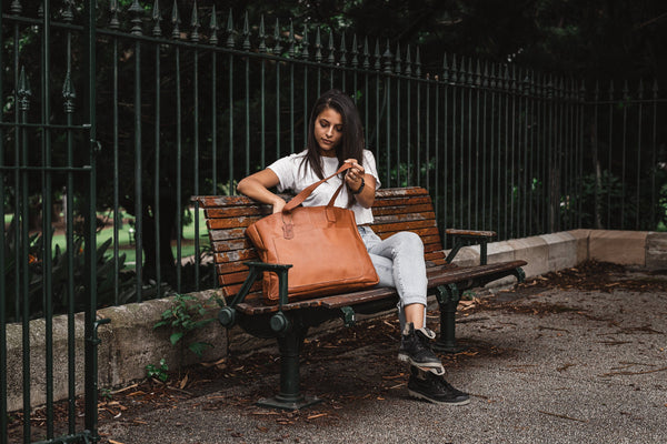
{"label": "grey paved ground scattered with dry leaves beneath the bench", "polygon": [[667,292],[607,287],[524,287],[461,311],[470,349],[444,360],[467,406],[407,396],[388,317],[308,344],[303,391],[323,398],[311,410],[252,404],[278,383],[273,356],[258,354],[230,361],[215,390],[102,417],[102,442],[667,443]]}

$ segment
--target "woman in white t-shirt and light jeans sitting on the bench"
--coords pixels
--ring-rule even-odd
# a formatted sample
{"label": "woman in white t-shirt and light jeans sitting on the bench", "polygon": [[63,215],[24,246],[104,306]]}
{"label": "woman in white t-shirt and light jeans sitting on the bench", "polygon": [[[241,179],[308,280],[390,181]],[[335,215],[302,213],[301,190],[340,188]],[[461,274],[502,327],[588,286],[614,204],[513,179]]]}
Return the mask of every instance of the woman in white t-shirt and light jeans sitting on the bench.
{"label": "woman in white t-shirt and light jeans sitting on the bench", "polygon": [[398,359],[410,363],[410,395],[435,403],[467,404],[469,396],[442,377],[442,363],[431,351],[435,333],[426,327],[427,278],[424,244],[419,235],[397,233],[381,240],[368,226],[370,208],[380,186],[376,161],[365,149],[359,112],[352,100],[338,90],[325,92],[316,102],[308,123],[305,151],[279,159],[266,170],[241,180],[238,191],[256,201],[271,204],[273,213],[286,202],[269,189],[299,193],[308,185],[334,174],[344,162],[352,168],[318,186],[305,206],[326,205],[345,181],[335,204],[355,212],[359,232],[380,279],[378,286],[392,286],[400,296],[401,344]]}

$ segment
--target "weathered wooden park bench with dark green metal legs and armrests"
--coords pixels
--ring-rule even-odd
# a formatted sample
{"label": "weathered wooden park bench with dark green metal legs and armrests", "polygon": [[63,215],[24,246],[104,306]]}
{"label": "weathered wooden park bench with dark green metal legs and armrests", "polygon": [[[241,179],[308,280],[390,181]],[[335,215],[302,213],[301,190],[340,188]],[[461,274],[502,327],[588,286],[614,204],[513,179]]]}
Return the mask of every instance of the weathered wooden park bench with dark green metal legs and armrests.
{"label": "weathered wooden park bench with dark green metal legs and armrests", "polygon": [[[289,198],[288,198],[289,199]],[[246,236],[246,228],[271,213],[270,205],[259,204],[240,195],[193,196],[205,210],[219,284],[227,306],[219,313],[226,327],[240,325],[258,337],[276,337],[280,350],[280,393],[260,400],[258,404],[286,410],[301,408],[319,400],[305,396],[299,390],[299,353],[311,326],[341,317],[352,325],[357,313],[374,314],[396,307],[395,289],[370,289],[347,294],[288,302],[288,268],[259,262],[257,252]],[[525,261],[487,264],[487,243],[496,234],[489,231],[448,230],[455,240],[446,254],[440,240],[436,214],[428,191],[422,188],[380,189],[372,206],[374,231],[382,239],[399,231],[412,231],[421,236],[427,263],[428,293],[440,307],[440,335],[434,349],[456,352],[455,315],[461,292],[488,282],[515,275],[520,282]],[[480,245],[480,264],[457,266],[451,263],[464,244]],[[285,280],[278,304],[268,305],[261,295],[261,278],[272,271]]]}

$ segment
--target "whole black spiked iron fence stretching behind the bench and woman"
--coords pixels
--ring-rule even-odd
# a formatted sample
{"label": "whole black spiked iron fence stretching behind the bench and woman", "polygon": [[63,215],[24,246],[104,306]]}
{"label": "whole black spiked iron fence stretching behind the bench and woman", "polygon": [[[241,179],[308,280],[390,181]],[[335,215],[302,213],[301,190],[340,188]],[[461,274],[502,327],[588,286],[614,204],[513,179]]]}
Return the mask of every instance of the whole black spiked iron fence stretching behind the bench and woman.
{"label": "whole black spiked iron fence stretching behind the bench and woman", "polygon": [[9,323],[28,331],[30,319],[91,303],[215,285],[189,196],[233,193],[300,151],[330,88],[355,99],[382,186],[427,188],[442,229],[506,240],[665,228],[667,107],[654,80],[422,61],[412,44],[196,3],[57,3],[4,1],[0,17],[2,362]]}

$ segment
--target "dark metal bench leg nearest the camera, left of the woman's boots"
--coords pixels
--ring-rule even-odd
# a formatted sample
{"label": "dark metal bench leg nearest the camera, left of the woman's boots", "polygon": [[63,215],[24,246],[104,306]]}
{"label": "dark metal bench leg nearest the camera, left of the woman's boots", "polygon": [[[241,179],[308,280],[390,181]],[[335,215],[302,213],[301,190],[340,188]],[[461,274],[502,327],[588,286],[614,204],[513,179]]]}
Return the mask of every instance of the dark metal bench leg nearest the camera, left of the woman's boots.
{"label": "dark metal bench leg nearest the camera, left of the woman's boots", "polygon": [[280,393],[273,397],[259,400],[257,405],[270,408],[299,410],[321,402],[315,396],[305,396],[299,392],[299,356],[307,330],[306,327],[292,327],[278,337]]}

